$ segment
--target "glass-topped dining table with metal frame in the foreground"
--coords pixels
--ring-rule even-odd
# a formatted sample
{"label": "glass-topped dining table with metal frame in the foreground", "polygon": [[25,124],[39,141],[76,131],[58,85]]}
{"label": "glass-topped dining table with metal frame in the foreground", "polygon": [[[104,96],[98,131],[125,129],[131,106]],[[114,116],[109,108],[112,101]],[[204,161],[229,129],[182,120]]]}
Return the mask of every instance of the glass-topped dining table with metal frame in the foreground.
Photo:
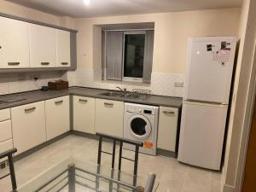
{"label": "glass-topped dining table with metal frame in the foreground", "polygon": [[138,191],[153,192],[158,187],[155,175],[133,176],[119,172],[108,166],[68,157],[55,166],[40,173],[32,180],[20,185],[18,192],[114,192]]}

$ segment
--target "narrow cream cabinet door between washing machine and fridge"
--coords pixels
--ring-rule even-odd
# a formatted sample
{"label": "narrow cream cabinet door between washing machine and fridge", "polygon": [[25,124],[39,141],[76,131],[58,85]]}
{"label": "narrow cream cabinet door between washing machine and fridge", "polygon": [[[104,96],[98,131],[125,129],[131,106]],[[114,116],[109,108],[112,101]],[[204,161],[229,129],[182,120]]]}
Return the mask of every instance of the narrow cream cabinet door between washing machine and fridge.
{"label": "narrow cream cabinet door between washing machine and fridge", "polygon": [[177,118],[177,108],[160,107],[157,148],[175,152]]}

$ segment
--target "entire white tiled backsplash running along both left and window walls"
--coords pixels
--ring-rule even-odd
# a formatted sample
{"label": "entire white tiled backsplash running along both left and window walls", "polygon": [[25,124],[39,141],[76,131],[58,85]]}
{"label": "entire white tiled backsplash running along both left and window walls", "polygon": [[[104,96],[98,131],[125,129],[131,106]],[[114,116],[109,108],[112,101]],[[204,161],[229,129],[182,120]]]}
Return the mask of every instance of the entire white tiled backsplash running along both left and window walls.
{"label": "entire white tiled backsplash running along both left and window walls", "polygon": [[[38,77],[35,81],[34,78]],[[183,96],[184,75],[175,73],[152,73],[151,84],[124,83],[119,81],[102,81],[102,70],[78,68],[75,72],[44,72],[44,73],[5,73],[0,77],[0,95],[27,90],[38,90],[49,81],[68,80],[69,86],[84,86],[99,89],[116,90],[116,86],[132,89],[151,90],[160,96]]]}

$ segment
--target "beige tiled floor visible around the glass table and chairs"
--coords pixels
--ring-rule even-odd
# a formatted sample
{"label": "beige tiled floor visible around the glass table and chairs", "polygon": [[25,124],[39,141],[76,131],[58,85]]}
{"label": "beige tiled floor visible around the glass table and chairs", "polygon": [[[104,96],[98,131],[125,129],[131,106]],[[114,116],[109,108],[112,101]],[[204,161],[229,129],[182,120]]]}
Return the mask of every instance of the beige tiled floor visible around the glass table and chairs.
{"label": "beige tiled floor visible around the glass table and chairs", "polygon": [[[104,143],[103,149],[112,145]],[[124,150],[124,156],[133,153]],[[97,141],[85,137],[68,136],[38,152],[15,162],[18,186],[43,172],[49,165],[58,163],[69,155],[96,163]],[[110,166],[110,158],[102,156],[102,164]],[[132,172],[131,162],[124,161],[122,170]],[[4,170],[0,170],[0,176]],[[220,173],[186,166],[165,156],[139,154],[138,174],[154,172],[160,181],[157,192],[220,192]],[[0,191],[10,190],[9,177],[0,181]]]}

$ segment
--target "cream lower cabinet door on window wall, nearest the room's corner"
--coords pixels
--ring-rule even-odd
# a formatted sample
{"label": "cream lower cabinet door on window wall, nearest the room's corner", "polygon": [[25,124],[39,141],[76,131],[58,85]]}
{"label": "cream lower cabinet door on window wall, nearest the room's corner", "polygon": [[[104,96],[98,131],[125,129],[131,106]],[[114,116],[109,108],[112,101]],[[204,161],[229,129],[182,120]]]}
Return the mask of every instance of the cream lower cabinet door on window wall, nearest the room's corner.
{"label": "cream lower cabinet door on window wall, nearest the room's corner", "polygon": [[95,98],[73,96],[73,130],[95,134]]}

